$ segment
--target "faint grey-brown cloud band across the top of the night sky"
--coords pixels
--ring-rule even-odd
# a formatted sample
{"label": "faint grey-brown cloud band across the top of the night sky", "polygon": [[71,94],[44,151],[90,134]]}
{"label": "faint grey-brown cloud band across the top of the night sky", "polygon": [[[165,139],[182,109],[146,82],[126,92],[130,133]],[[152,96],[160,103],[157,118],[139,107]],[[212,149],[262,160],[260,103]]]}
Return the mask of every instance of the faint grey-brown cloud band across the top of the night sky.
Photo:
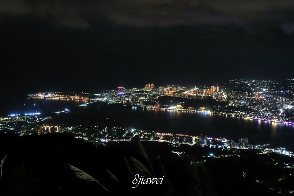
{"label": "faint grey-brown cloud band across the top of the night sky", "polygon": [[4,16],[50,16],[56,25],[73,28],[91,28],[106,20],[135,27],[232,24],[250,31],[254,22],[274,22],[291,33],[289,24],[294,22],[293,0],[2,0],[0,7]]}

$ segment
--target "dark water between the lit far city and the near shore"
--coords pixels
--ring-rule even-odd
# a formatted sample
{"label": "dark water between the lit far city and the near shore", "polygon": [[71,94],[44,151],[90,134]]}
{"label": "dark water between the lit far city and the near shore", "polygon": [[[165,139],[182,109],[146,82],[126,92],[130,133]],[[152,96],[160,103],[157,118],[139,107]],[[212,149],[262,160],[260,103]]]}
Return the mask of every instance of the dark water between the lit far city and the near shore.
{"label": "dark water between the lit far city and the near shore", "polygon": [[[104,103],[85,103],[81,100],[29,98],[27,96],[1,100],[0,115],[41,112],[56,123],[133,127],[166,133],[206,134],[211,137],[232,138],[238,141],[248,136],[249,143],[271,143],[289,150],[293,148],[294,126],[262,122],[223,115],[200,114],[156,109],[132,109]],[[53,112],[71,109],[69,113]]]}

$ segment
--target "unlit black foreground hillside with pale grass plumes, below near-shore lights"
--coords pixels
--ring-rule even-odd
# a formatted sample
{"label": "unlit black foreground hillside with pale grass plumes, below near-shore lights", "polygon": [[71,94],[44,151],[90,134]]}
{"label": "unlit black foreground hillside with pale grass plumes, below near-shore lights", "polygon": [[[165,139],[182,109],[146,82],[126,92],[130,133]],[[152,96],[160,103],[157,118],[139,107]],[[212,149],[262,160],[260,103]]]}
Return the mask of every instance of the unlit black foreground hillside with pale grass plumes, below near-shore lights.
{"label": "unlit black foreground hillside with pale grass plumes, below near-shore lights", "polygon": [[[277,194],[255,182],[253,176],[242,177],[243,168],[250,167],[255,172],[267,160],[255,160],[251,167],[248,163],[252,160],[214,158],[202,165],[198,160],[210,149],[197,146],[192,150],[188,145],[178,147],[189,151],[178,157],[171,153],[175,148],[169,143],[134,140],[94,147],[70,135],[55,133],[23,137],[1,134],[0,148],[0,159],[7,155],[0,195]],[[85,175],[78,175],[69,165]],[[132,188],[136,174],[165,177],[162,184]]]}

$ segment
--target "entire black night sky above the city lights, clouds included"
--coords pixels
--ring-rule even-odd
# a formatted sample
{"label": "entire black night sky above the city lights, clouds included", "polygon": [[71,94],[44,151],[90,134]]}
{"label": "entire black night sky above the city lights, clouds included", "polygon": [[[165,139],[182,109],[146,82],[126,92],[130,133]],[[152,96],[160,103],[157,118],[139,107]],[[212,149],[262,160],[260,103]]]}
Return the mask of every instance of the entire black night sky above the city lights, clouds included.
{"label": "entire black night sky above the city lights, clouds included", "polygon": [[294,78],[293,0],[1,0],[1,92]]}

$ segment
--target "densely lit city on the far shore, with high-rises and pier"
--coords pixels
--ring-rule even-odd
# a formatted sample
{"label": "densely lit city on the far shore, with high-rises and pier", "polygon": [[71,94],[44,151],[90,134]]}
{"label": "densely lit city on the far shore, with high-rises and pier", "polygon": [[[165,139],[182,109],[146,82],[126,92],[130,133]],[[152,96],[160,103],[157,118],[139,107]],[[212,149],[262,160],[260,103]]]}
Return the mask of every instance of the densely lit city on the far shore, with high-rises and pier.
{"label": "densely lit city on the far shore, with high-rises and pier", "polygon": [[[180,85],[158,86],[148,83],[143,88],[103,91],[87,96],[62,93],[36,93],[31,97],[74,98],[121,103],[133,108],[147,107],[169,110],[233,115],[257,120],[294,123],[294,80],[226,80],[222,84],[186,88]],[[86,106],[89,103],[82,104]]]}

